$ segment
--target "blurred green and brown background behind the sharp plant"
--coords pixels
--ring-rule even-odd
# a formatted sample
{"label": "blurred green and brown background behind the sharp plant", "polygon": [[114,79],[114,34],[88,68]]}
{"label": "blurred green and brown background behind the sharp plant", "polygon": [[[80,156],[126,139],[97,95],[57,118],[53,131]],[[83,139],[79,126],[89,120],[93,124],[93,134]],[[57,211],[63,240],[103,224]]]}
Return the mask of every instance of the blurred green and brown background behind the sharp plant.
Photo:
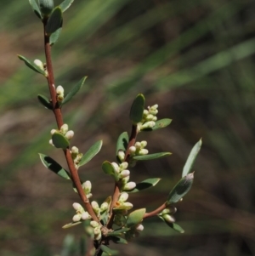
{"label": "blurred green and brown background behind the sharp plant", "polygon": [[[53,48],[55,80],[68,92],[88,76],[63,112],[80,151],[104,140],[79,170],[92,181],[94,199],[102,202],[113,190],[100,166],[115,160],[118,135],[130,132],[136,94],[159,105],[158,117],[173,119],[139,139],[150,152],[173,155],[133,169],[133,181],[162,178],[131,196],[135,208],[161,205],[192,145],[203,139],[193,188],[175,214],[185,233],[146,219],[139,239],[113,246],[120,255],[255,255],[254,13],[252,0],[75,0],[65,12]],[[2,0],[0,17],[0,255],[81,255],[62,245],[72,238],[78,244],[82,226],[61,229],[79,199],[37,154],[65,166],[63,154],[48,145],[54,117],[37,102],[48,87],[16,57],[44,60],[42,24],[24,0]]]}

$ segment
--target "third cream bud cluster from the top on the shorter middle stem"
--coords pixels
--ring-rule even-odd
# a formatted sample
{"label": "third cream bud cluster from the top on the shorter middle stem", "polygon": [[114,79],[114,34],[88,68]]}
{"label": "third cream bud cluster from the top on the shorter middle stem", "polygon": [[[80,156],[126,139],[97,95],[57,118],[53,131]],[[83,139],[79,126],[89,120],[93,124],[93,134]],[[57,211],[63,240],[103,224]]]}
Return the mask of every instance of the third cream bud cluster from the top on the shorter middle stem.
{"label": "third cream bud cluster from the top on the shorter middle stem", "polygon": [[114,168],[116,177],[122,181],[122,191],[133,190],[136,184],[133,181],[128,182],[130,179],[130,171],[127,170],[128,163],[122,162],[121,164],[117,164],[116,162],[111,162],[111,165]]}

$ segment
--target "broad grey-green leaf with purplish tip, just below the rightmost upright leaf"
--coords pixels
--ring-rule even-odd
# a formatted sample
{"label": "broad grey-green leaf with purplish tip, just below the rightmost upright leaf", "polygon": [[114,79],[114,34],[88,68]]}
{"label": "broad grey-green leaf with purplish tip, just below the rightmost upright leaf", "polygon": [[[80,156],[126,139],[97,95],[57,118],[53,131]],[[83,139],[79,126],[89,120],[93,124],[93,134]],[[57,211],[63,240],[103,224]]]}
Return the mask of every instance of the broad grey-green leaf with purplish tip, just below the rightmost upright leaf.
{"label": "broad grey-green leaf with purplish tip, just below the rightmost upright leaf", "polygon": [[187,174],[182,179],[180,179],[177,185],[174,186],[173,190],[170,191],[167,197],[167,204],[178,202],[181,198],[183,198],[190,191],[193,179],[193,173]]}

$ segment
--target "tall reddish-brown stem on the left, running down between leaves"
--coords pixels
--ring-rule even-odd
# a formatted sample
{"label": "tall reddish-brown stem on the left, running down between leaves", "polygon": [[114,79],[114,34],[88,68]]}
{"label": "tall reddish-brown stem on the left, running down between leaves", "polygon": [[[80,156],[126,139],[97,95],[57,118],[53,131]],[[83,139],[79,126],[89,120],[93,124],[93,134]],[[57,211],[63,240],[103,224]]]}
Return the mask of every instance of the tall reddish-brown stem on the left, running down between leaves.
{"label": "tall reddish-brown stem on the left, running down between leaves", "polygon": [[[51,60],[51,46],[49,43],[49,36],[45,32],[46,23],[47,23],[47,20],[44,20],[44,22],[43,22],[43,25],[44,25],[44,50],[45,50],[45,58],[46,58],[46,67],[47,67],[47,71],[48,71],[48,77],[47,77],[48,88],[49,88],[49,93],[50,93],[50,97],[51,97],[51,102],[53,105],[54,116],[55,116],[58,128],[61,128],[61,126],[64,124],[64,122],[63,122],[61,109],[57,102],[57,94],[56,94],[55,86],[54,86],[54,71],[53,71],[53,65],[52,65],[52,60]],[[64,153],[65,153],[65,159],[66,159],[67,165],[68,165],[70,173],[71,173],[71,179],[77,188],[77,192],[78,192],[79,196],[81,197],[82,202],[85,205],[85,208],[87,209],[88,213],[91,215],[92,219],[99,222],[98,217],[94,213],[94,210],[91,207],[91,204],[89,203],[88,197],[86,196],[86,194],[84,193],[84,191],[82,189],[81,180],[78,176],[77,168],[75,168],[74,162],[71,158],[71,152],[69,151],[69,148],[65,149]]]}

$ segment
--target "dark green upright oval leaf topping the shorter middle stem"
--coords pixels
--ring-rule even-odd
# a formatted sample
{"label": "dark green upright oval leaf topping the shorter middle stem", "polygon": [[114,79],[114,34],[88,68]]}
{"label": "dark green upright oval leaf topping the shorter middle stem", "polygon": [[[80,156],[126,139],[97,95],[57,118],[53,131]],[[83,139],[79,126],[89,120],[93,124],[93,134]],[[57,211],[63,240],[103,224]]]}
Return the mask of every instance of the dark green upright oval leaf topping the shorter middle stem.
{"label": "dark green upright oval leaf topping the shorter middle stem", "polygon": [[138,124],[142,121],[144,115],[144,95],[138,94],[136,98],[133,100],[133,104],[131,106],[129,118],[133,122],[133,124]]}

